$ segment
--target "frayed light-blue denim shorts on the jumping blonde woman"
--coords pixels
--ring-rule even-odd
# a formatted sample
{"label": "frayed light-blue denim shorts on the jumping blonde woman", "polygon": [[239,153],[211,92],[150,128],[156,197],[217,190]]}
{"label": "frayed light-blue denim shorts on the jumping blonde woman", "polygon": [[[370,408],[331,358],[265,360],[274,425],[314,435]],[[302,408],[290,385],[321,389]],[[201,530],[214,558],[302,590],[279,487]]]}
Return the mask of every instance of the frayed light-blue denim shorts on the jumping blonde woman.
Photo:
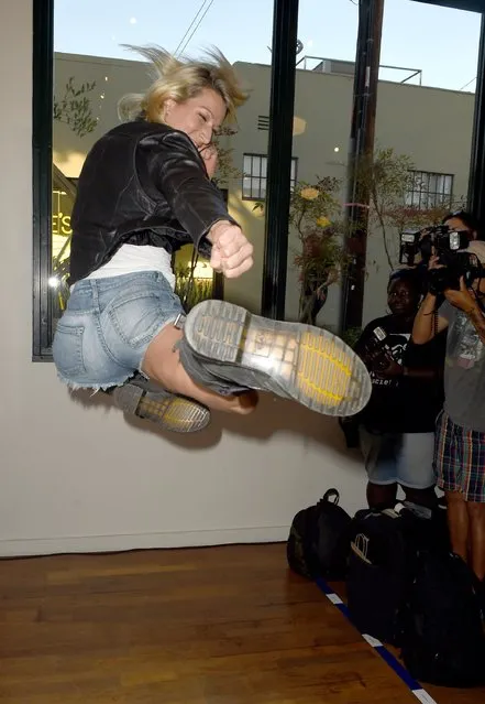
{"label": "frayed light-blue denim shorts on the jumping blonde woman", "polygon": [[60,380],[74,389],[122,385],[141,371],[150,343],[183,313],[157,271],[79,281],[54,336]]}

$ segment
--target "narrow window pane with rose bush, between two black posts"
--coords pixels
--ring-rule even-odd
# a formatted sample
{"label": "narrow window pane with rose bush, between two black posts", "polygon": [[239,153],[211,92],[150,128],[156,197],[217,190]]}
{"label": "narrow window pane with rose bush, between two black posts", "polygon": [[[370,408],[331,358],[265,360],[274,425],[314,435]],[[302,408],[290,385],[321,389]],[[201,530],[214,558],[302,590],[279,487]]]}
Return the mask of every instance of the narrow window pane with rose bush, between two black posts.
{"label": "narrow window pane with rose bush, between two black posts", "polygon": [[[299,2],[301,51],[297,55],[293,129],[293,156],[298,162],[291,163],[291,180],[297,183],[291,198],[286,317],[302,319],[309,311],[311,316],[306,321],[331,329],[338,328],[340,315],[340,288],[332,270],[341,258],[357,4],[348,0]],[[311,188],[304,192],[304,184]],[[335,207],[329,207],[326,196]],[[330,227],[322,227],[326,220]],[[335,282],[327,291],[328,279]]]}

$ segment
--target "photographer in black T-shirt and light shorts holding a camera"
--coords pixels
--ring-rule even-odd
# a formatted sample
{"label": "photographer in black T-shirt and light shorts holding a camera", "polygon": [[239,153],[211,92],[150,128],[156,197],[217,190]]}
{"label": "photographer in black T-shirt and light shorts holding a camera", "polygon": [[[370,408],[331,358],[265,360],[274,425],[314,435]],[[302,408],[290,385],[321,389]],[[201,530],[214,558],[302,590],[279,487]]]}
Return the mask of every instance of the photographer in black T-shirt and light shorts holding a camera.
{"label": "photographer in black T-shirt and light shorts holding a camera", "polygon": [[423,347],[410,344],[421,299],[416,270],[389,278],[390,315],[370,323],[355,351],[373,382],[368,405],[355,419],[367,470],[371,508],[394,507],[398,485],[409,501],[433,507],[434,420],[442,405],[443,336]]}

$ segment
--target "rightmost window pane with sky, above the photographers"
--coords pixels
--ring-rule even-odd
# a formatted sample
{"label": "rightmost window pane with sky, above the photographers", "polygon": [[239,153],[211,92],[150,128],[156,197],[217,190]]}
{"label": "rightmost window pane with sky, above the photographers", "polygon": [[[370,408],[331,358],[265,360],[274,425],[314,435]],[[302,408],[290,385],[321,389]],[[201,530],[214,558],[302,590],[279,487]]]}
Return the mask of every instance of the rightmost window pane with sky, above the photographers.
{"label": "rightmost window pane with sky, above the photographers", "polygon": [[[450,28],[466,36],[463,51],[447,51]],[[384,229],[371,208],[364,324],[386,312],[388,275],[399,263],[399,230],[440,223],[466,201],[480,31],[476,12],[411,0],[385,2],[375,151],[392,150],[389,176],[406,162],[415,174],[403,201],[385,180],[381,183]],[[401,176],[406,182],[404,171]]]}

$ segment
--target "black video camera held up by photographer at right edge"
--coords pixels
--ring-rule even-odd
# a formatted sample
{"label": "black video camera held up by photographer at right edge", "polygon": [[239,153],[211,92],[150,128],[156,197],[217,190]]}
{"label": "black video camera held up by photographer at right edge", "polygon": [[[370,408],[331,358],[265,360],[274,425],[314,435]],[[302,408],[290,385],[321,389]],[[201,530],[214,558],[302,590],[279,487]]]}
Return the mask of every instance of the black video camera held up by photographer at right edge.
{"label": "black video camera held up by photographer at right edge", "polygon": [[[455,231],[448,225],[427,227],[421,230],[404,230],[400,235],[401,264],[416,266],[416,258],[427,269],[428,290],[431,293],[443,293],[447,289],[460,289],[460,279],[471,286],[475,279],[483,275],[482,264],[472,252],[466,252],[470,235],[466,230]],[[432,254],[438,257],[440,268],[428,270]]]}

